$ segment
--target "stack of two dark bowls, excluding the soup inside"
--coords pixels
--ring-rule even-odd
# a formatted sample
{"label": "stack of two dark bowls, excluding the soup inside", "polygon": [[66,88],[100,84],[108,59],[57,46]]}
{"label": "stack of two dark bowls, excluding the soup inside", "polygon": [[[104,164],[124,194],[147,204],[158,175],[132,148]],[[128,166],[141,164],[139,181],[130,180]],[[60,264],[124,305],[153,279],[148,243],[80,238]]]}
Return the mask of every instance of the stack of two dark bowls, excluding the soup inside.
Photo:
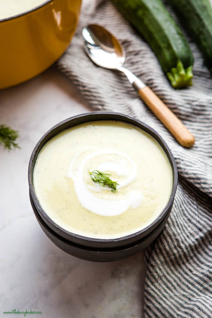
{"label": "stack of two dark bowls, excluding the soup inside", "polygon": [[[163,206],[162,210],[157,213],[157,215],[151,219],[151,222],[144,223],[144,225],[138,230],[130,231],[127,235],[126,232],[123,232],[124,235],[120,234],[104,237],[98,234],[96,235],[82,235],[79,231],[71,232],[70,230],[65,229],[65,226],[61,226],[60,222],[55,222],[55,218],[51,218],[49,213],[46,213],[46,208],[42,207],[40,203],[40,198],[38,199],[38,191],[35,190],[35,166],[36,162],[39,158],[39,154],[41,149],[48,145],[48,142],[54,140],[58,134],[63,134],[67,129],[81,127],[80,125],[91,123],[113,123],[114,126],[117,123],[122,123],[123,125],[129,125],[130,127],[135,127],[136,129],[140,129],[145,134],[145,138],[149,138],[153,140],[157,147],[160,147],[160,151],[162,151],[167,158],[167,162],[170,165],[170,174],[171,174],[171,186],[170,191],[168,193],[167,201]],[[52,139],[53,138],[53,139]],[[114,137],[115,138],[115,137]],[[141,145],[142,147],[142,145]],[[102,148],[104,148],[104,143],[102,144]],[[43,153],[42,153],[43,154]],[[54,154],[52,155],[54,156]],[[157,161],[157,160],[156,160]],[[158,169],[158,168],[157,168]],[[164,167],[159,169],[164,169]],[[150,172],[149,172],[150,173]],[[147,172],[148,174],[148,172]],[[162,174],[163,176],[163,174]],[[174,161],[174,157],[168,148],[167,144],[161,138],[161,136],[148,125],[128,117],[124,114],[113,113],[113,112],[92,112],[88,114],[82,114],[78,116],[74,116],[65,121],[58,123],[56,126],[51,128],[37,143],[35,149],[32,152],[30,163],[29,163],[29,190],[30,190],[30,200],[31,206],[34,211],[34,214],[37,218],[39,225],[41,226],[44,233],[47,237],[60,249],[63,251],[81,259],[86,259],[90,261],[96,262],[108,262],[114,261],[118,259],[122,259],[128,256],[139,252],[144,249],[153,242],[154,239],[161,233],[163,227],[165,226],[169,214],[171,212],[174,196],[177,188],[177,168]],[[165,178],[165,177],[164,177]],[[162,177],[163,179],[163,177]],[[164,179],[165,180],[165,179]],[[164,180],[159,180],[162,185]],[[39,188],[39,184],[38,184]],[[158,189],[157,195],[160,197],[160,190]],[[77,190],[76,190],[77,192]],[[105,191],[103,191],[105,192]],[[97,193],[97,195],[99,195]],[[151,197],[154,200],[154,194],[151,194]],[[105,201],[106,202],[106,201]],[[127,202],[127,201],[126,201]],[[151,204],[151,202],[149,203]],[[61,207],[62,209],[62,207]],[[78,211],[74,211],[74,207],[70,206],[70,219],[72,219],[72,212],[78,213]],[[86,209],[84,209],[86,211]],[[61,211],[59,211],[61,212]],[[88,211],[88,213],[92,213]],[[126,213],[126,212],[124,212]],[[123,215],[124,213],[120,214]],[[142,214],[142,209],[141,209]],[[113,213],[112,213],[113,215]],[[119,218],[120,216],[116,216]],[[99,216],[98,216],[99,217]],[[106,216],[100,216],[99,218],[106,219]],[[130,222],[129,222],[130,223]],[[98,232],[98,229],[97,229]]]}

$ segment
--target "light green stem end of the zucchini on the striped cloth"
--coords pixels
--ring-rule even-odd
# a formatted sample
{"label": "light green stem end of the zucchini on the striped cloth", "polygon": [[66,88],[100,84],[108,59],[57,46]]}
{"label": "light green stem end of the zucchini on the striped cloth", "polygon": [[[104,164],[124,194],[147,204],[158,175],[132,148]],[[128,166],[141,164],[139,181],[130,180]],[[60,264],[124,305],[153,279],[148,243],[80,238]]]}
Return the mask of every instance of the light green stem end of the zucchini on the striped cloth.
{"label": "light green stem end of the zucchini on the striped cloth", "polygon": [[171,71],[167,73],[167,77],[174,88],[181,88],[192,85],[192,66],[184,68],[180,60],[177,61],[177,66],[172,67]]}

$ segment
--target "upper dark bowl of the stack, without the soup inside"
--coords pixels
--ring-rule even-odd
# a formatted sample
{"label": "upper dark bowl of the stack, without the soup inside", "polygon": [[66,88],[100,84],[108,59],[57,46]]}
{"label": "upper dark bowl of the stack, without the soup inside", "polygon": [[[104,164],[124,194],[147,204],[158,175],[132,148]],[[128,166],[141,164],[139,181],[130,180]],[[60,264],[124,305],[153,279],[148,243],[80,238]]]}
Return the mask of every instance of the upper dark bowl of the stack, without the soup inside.
{"label": "upper dark bowl of the stack, without the soup inside", "polygon": [[[73,126],[89,122],[89,121],[105,121],[105,120],[113,120],[113,121],[122,121],[125,123],[133,124],[134,126],[137,126],[147,132],[149,135],[153,136],[154,139],[156,139],[165,153],[168,156],[168,160],[172,167],[173,172],[173,189],[170,196],[170,199],[163,211],[161,211],[161,214],[156,218],[150,225],[148,225],[146,228],[140,230],[139,232],[135,232],[133,234],[123,236],[116,239],[96,239],[96,238],[89,238],[82,235],[78,235],[75,233],[71,233],[54,223],[51,218],[48,217],[48,215],[45,213],[45,211],[42,209],[41,205],[39,204],[39,201],[36,197],[34,186],[33,186],[33,169],[36,162],[36,159],[38,157],[38,153],[41,150],[41,148],[45,145],[46,142],[48,142],[51,138],[53,138],[55,135],[59,134],[61,131],[71,128]],[[55,233],[55,235],[58,235],[61,239],[65,239],[65,242],[69,241],[78,245],[87,246],[90,248],[120,248],[121,246],[126,246],[135,242],[138,242],[141,239],[145,239],[148,235],[151,235],[151,233],[154,232],[154,230],[160,225],[163,224],[165,220],[167,220],[167,215],[169,215],[172,205],[174,202],[174,196],[177,189],[177,168],[176,163],[174,161],[174,157],[168,148],[166,142],[161,138],[161,136],[151,127],[148,125],[142,123],[141,121],[138,121],[136,119],[133,119],[131,117],[128,117],[124,114],[119,113],[113,113],[113,112],[93,112],[88,114],[81,114],[74,117],[71,117],[69,119],[66,119],[65,121],[60,122],[53,128],[51,128],[37,143],[35,146],[35,149],[32,152],[30,163],[29,163],[29,188],[30,188],[30,196],[33,204],[35,205],[35,208],[40,216],[40,218],[44,221],[44,223],[47,225],[45,227],[45,233],[47,229],[51,230]],[[161,223],[163,222],[163,223]],[[44,230],[44,227],[42,227]],[[46,233],[47,234],[47,233]],[[54,242],[55,243],[55,242]],[[71,243],[70,243],[71,244]],[[57,245],[57,244],[56,244]],[[80,257],[80,256],[79,256]]]}

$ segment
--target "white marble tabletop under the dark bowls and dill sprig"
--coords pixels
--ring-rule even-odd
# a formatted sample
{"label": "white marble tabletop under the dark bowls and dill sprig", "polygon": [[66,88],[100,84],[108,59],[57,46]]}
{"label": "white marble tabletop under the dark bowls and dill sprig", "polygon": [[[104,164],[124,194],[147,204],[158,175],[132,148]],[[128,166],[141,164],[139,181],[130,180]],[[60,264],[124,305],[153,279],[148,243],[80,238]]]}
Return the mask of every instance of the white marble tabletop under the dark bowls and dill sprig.
{"label": "white marble tabletop under the dark bowls and dill sprig", "polygon": [[31,152],[53,125],[91,111],[71,81],[54,67],[27,83],[0,91],[0,124],[19,130],[21,149],[0,147],[0,317],[144,317],[143,252],[93,263],[56,247],[31,209],[27,169]]}

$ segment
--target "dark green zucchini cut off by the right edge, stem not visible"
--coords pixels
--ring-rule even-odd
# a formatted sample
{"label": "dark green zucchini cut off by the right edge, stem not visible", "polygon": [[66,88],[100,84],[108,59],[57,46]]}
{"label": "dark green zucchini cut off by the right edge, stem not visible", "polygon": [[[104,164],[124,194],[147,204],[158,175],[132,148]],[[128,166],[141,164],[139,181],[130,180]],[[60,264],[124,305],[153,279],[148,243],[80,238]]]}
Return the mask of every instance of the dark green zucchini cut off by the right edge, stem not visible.
{"label": "dark green zucchini cut off by the right edge, stem not visible", "polygon": [[169,0],[212,72],[212,7],[209,0]]}

